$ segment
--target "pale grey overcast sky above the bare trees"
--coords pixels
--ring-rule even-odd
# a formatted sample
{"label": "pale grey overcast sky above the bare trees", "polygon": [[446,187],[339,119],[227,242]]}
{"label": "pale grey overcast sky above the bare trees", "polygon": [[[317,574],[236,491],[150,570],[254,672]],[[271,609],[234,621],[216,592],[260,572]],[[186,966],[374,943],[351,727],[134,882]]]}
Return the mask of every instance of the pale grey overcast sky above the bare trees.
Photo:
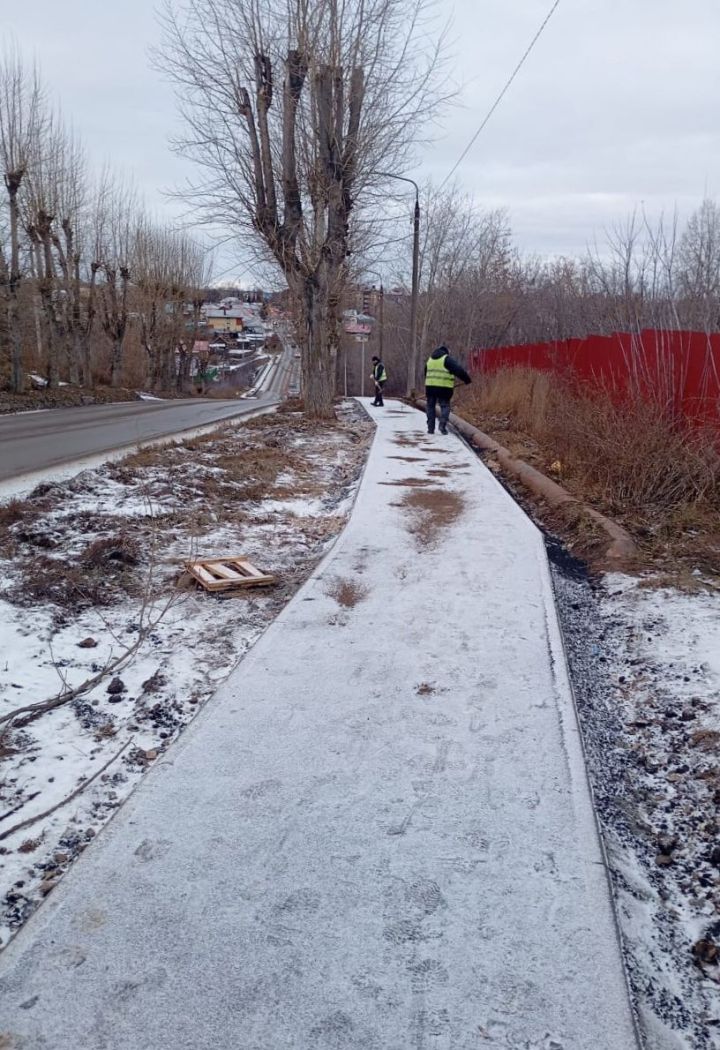
{"label": "pale grey overcast sky above the bare trees", "polygon": [[[440,0],[461,101],[416,177],[445,177],[551,3]],[[171,90],[148,63],[151,0],[7,7],[3,36],[37,57],[91,160],[171,207],[162,191],[187,169],[166,145]],[[718,0],[560,0],[458,182],[481,206],[507,208],[520,246],[541,254],[578,254],[635,207],[686,214],[720,195],[719,42]]]}

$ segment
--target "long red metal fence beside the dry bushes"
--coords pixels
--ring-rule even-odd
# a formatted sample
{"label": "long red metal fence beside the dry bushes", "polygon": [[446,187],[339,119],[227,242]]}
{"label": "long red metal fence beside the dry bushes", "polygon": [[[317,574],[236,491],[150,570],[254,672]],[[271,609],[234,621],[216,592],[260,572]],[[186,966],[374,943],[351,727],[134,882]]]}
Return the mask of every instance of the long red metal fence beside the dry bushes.
{"label": "long red metal fence beside the dry bushes", "polygon": [[652,397],[675,418],[720,425],[720,333],[616,332],[470,352],[474,372],[555,372],[613,394]]}

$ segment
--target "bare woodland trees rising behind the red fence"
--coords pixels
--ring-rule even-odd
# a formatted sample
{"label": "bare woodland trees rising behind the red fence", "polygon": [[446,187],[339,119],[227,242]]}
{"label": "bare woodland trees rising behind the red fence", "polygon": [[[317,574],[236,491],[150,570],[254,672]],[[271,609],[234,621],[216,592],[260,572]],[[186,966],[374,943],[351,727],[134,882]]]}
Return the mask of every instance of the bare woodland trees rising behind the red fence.
{"label": "bare woodland trees rising behind the red fence", "polygon": [[[581,256],[556,258],[523,253],[507,212],[484,211],[458,188],[427,186],[422,212],[421,361],[441,343],[462,357],[473,348],[618,331],[720,330],[715,201],[703,201],[683,223],[677,214],[651,222],[637,210]],[[409,287],[406,267],[395,282]],[[404,374],[409,296],[386,295],[384,314],[385,356]]]}

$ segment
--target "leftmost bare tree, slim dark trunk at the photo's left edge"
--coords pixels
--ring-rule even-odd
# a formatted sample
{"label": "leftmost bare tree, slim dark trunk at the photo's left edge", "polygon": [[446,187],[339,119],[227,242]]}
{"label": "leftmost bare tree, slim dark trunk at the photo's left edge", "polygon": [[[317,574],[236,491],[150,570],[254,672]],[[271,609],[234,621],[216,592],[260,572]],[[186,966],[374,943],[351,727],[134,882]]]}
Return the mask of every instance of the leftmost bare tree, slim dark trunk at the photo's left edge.
{"label": "leftmost bare tree, slim dark trunk at the photo's left edge", "polygon": [[24,386],[22,339],[18,292],[21,224],[20,190],[34,163],[34,149],[42,139],[44,99],[37,70],[28,71],[15,50],[0,55],[0,167],[7,191],[9,252],[0,267],[6,290],[6,331],[10,339],[10,385],[16,393]]}

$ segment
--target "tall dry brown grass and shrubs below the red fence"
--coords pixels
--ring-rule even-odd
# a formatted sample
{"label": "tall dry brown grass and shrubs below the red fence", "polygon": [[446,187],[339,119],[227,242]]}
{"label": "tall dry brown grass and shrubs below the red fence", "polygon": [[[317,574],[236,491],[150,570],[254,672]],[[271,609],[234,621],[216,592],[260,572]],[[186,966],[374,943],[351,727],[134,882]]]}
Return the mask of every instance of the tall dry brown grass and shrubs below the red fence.
{"label": "tall dry brown grass and shrubs below the red fence", "polygon": [[621,522],[647,555],[720,574],[720,443],[639,397],[529,369],[484,377],[458,411],[579,499]]}

